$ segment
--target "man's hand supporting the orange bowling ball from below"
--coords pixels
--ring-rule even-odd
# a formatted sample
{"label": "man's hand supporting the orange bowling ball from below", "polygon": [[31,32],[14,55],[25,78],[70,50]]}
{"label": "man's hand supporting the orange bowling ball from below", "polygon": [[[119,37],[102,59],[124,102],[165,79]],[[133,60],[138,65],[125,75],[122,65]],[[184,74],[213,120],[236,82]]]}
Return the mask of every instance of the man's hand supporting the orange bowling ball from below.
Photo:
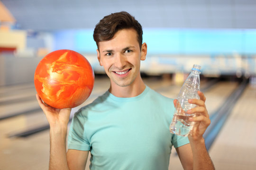
{"label": "man's hand supporting the orange bowling ball from below", "polygon": [[41,98],[37,94],[37,102],[39,106],[42,108],[46,115],[46,119],[48,120],[50,126],[67,126],[69,122],[71,108],[66,109],[56,109],[53,108],[46,103],[42,102]]}

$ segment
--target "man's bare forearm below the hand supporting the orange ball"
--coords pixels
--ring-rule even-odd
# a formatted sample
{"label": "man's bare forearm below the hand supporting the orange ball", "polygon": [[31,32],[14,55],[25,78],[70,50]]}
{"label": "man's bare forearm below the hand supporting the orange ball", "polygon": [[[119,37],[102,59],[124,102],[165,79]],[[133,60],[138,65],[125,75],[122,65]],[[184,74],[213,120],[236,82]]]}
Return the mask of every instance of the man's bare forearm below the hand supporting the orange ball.
{"label": "man's bare forearm below the hand supporting the orange ball", "polygon": [[50,128],[49,170],[69,170],[66,158],[67,127]]}

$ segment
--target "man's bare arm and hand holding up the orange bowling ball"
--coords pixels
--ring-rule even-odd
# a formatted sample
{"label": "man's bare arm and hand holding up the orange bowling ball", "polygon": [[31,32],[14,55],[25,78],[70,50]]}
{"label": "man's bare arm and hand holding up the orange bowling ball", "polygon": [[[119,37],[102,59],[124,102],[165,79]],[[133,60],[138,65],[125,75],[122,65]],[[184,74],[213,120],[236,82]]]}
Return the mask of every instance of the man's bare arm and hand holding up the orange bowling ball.
{"label": "man's bare arm and hand holding up the orange bowling ball", "polygon": [[37,102],[50,125],[49,170],[84,170],[88,151],[68,150],[66,134],[71,109],[55,109],[42,102],[37,94]]}

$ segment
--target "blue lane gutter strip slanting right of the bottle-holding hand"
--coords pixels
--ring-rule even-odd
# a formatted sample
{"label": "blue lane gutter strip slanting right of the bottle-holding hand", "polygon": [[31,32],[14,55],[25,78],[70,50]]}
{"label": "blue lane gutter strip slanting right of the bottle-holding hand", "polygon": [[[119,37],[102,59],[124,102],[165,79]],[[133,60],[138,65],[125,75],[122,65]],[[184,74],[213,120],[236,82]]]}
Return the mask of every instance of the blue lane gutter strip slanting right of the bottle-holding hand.
{"label": "blue lane gutter strip slanting right of the bottle-holding hand", "polygon": [[209,150],[220,130],[233,110],[236,102],[247,87],[247,80],[243,80],[238,87],[229,95],[227,100],[210,116],[210,126],[206,129],[203,137],[206,149]]}

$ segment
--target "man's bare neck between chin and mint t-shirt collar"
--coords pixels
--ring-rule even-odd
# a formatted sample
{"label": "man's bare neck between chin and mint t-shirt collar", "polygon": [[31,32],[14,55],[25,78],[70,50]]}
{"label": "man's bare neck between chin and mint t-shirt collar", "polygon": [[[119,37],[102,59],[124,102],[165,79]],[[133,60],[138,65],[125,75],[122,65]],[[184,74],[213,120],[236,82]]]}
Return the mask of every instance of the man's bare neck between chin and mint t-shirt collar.
{"label": "man's bare neck between chin and mint t-shirt collar", "polygon": [[135,97],[141,94],[146,88],[142,78],[139,76],[131,85],[121,87],[110,81],[110,93],[117,97]]}

